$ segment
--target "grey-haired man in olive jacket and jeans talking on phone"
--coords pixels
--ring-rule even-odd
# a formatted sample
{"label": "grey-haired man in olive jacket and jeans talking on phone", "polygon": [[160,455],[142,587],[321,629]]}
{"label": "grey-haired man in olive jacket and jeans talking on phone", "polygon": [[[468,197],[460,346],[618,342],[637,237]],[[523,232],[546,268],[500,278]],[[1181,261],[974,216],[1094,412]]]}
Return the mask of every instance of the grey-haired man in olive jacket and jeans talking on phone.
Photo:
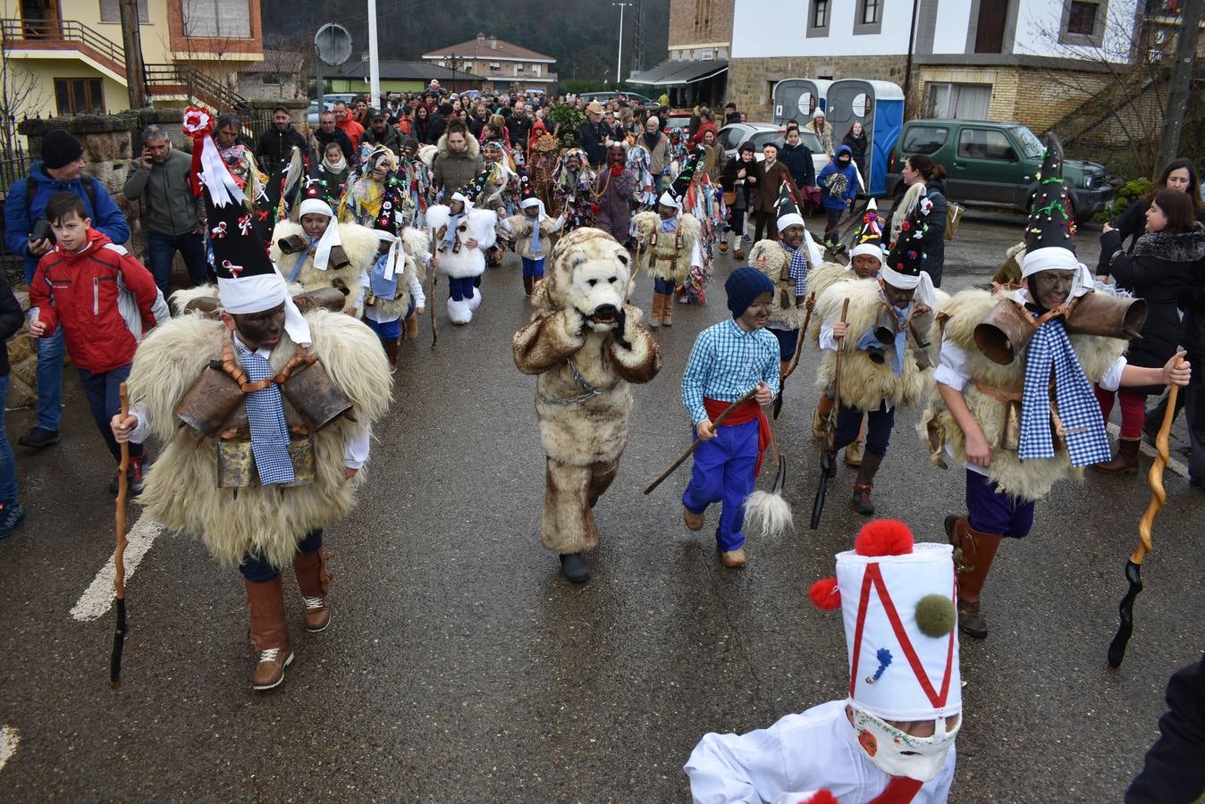
{"label": "grey-haired man in olive jacket and jeans talking on phone", "polygon": [[188,189],[192,164],[188,154],[172,149],[161,126],[149,125],[142,131],[142,154],[134,160],[122,188],[130,201],[143,200],[147,262],[164,298],[169,296],[176,252],[188,266],[190,284],[208,282],[205,225],[196,197]]}

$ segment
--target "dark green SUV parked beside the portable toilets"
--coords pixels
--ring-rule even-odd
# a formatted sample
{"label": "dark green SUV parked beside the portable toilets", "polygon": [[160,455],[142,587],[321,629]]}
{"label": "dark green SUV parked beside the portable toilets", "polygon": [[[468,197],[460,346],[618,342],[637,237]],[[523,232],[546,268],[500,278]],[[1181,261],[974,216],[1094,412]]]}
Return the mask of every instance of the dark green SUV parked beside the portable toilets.
{"label": "dark green SUV parked beside the portable toilets", "polygon": [[[1021,123],[995,120],[909,120],[890,152],[887,193],[895,194],[898,172],[913,154],[927,154],[946,169],[946,195],[958,201],[1029,208],[1038,190],[1046,147]],[[1103,211],[1113,195],[1105,169],[1097,162],[1063,160],[1075,219],[1083,223]]]}

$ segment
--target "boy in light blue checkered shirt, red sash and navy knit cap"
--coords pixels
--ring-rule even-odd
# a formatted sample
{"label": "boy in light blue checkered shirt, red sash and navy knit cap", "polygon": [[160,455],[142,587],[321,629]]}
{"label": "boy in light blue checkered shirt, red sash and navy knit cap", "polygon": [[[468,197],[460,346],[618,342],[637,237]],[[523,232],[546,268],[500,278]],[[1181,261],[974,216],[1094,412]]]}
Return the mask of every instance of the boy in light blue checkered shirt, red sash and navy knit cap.
{"label": "boy in light blue checkered shirt, red sash and navy knit cap", "polygon": [[[682,519],[703,528],[711,503],[722,503],[716,544],[725,567],[745,566],[745,499],[770,443],[763,406],[778,392],[778,339],[770,321],[774,283],[757,268],[737,268],[724,283],[730,320],[699,333],[682,374],[682,404],[699,441],[690,483],[682,492]],[[718,427],[715,420],[733,402],[757,389]]]}

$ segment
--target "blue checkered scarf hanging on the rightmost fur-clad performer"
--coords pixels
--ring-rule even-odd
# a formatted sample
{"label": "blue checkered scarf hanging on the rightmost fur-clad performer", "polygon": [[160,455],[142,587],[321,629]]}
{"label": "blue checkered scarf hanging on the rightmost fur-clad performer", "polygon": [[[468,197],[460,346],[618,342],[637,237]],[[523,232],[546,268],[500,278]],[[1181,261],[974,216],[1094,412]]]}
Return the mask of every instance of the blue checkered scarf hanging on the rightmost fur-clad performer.
{"label": "blue checkered scarf hanging on the rightmost fur-clad performer", "polygon": [[1054,398],[1063,422],[1063,438],[1071,466],[1089,466],[1112,457],[1100,403],[1092,384],[1071,349],[1063,321],[1051,319],[1038,327],[1029,341],[1025,360],[1025,388],[1021,397],[1022,461],[1054,457],[1051,434],[1051,368],[1054,371]]}

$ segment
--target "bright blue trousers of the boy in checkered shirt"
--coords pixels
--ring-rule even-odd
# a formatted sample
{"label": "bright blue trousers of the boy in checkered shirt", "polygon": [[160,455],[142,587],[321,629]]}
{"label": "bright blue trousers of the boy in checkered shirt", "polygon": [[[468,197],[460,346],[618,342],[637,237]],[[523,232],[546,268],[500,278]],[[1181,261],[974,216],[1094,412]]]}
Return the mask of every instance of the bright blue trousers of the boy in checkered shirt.
{"label": "bright blue trousers of the boy in checkered shirt", "polygon": [[716,437],[694,450],[690,484],[682,492],[682,504],[701,514],[711,503],[722,503],[716,544],[722,552],[745,544],[745,498],[753,493],[757,478],[757,419],[742,425],[721,425]]}

